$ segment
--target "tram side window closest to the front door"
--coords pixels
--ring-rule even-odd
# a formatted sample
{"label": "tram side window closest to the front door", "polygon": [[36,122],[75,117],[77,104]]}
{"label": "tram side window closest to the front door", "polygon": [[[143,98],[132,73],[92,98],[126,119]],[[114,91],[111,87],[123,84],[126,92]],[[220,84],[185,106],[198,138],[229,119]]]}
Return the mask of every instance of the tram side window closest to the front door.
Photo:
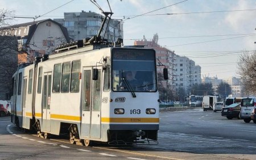
{"label": "tram side window closest to the front door", "polygon": [[79,74],[81,68],[80,61],[72,62],[72,71],[71,71],[71,92],[79,92]]}

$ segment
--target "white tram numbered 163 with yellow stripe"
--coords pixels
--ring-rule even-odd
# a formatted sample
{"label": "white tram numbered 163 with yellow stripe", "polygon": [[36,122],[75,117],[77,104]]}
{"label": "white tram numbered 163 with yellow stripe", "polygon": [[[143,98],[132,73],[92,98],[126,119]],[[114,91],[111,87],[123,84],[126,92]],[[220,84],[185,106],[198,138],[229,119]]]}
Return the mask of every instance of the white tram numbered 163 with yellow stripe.
{"label": "white tram numbered 163 with yellow stripe", "polygon": [[12,122],[44,138],[68,133],[71,143],[86,146],[157,143],[155,50],[84,44],[62,46],[16,71]]}

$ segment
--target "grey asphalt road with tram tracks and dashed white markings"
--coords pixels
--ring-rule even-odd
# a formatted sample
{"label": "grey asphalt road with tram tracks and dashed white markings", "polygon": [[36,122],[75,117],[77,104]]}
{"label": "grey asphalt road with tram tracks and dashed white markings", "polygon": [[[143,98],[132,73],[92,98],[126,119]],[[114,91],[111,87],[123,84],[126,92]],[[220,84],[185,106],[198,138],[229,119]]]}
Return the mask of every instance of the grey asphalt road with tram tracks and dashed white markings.
{"label": "grey asphalt road with tram tracks and dashed white markings", "polygon": [[0,159],[256,159],[256,124],[199,108],[161,111],[158,145],[93,147],[26,133],[0,117]]}

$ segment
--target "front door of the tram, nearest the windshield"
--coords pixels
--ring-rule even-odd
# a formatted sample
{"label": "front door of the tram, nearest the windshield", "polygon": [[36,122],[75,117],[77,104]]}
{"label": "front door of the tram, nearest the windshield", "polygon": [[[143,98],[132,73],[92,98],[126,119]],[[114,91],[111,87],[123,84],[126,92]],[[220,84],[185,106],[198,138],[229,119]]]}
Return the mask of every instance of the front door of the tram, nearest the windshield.
{"label": "front door of the tram, nearest the windshield", "polygon": [[98,80],[92,80],[92,68],[83,70],[81,136],[101,136],[101,70]]}

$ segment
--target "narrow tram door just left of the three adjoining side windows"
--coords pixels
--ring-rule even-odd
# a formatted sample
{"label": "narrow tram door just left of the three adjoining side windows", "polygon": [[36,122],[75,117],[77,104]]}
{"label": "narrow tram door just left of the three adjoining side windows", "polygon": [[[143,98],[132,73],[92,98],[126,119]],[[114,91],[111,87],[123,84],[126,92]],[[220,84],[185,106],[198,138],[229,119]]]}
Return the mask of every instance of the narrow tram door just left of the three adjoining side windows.
{"label": "narrow tram door just left of the three adjoining side windows", "polygon": [[52,75],[51,73],[44,73],[43,78],[43,98],[42,98],[42,113],[43,113],[43,120],[42,120],[42,130],[44,131],[51,131],[51,81]]}

